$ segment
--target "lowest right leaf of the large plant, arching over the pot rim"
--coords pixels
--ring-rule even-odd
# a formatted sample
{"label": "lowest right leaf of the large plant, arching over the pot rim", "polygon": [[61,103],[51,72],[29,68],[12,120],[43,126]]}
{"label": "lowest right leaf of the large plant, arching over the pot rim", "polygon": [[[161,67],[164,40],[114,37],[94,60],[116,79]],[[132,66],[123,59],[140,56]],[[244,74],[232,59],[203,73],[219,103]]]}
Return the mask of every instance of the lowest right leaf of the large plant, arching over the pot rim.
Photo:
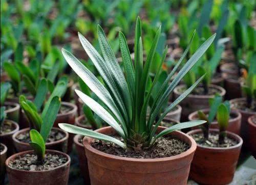
{"label": "lowest right leaf of the large plant, arching over the pot rim", "polygon": [[180,130],[180,129],[184,129],[184,128],[190,128],[190,127],[193,127],[193,126],[201,125],[203,123],[206,123],[206,121],[204,121],[204,120],[195,120],[195,121],[188,121],[188,122],[183,122],[183,123],[175,124],[175,125],[173,125],[173,126],[171,126],[169,128],[164,129],[163,131],[161,131],[161,133],[159,133],[156,136],[156,139],[160,138],[160,137],[162,137],[162,136],[164,136],[166,134],[172,133],[175,130]]}

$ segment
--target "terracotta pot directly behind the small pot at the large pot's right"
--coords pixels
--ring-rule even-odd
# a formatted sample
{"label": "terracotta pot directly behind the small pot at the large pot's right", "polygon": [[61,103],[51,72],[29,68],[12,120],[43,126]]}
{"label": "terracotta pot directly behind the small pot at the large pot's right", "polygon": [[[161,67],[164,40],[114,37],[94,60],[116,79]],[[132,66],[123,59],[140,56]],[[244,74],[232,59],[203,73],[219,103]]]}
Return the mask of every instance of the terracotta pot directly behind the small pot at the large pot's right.
{"label": "terracotta pot directly behind the small pot at the large pot's right", "polygon": [[[209,114],[209,109],[202,109],[200,110],[202,111],[204,114]],[[240,127],[241,127],[241,114],[239,111],[237,110],[231,110],[230,114],[235,115],[235,118],[231,118],[228,121],[228,127],[227,127],[227,131],[230,131],[231,133],[240,135]],[[197,111],[189,114],[188,116],[188,120],[192,121],[192,120],[198,120],[198,115],[197,115]],[[193,129],[198,129],[199,127],[193,127]],[[212,121],[212,123],[210,124],[210,128],[216,128],[219,129],[218,123],[217,121]]]}

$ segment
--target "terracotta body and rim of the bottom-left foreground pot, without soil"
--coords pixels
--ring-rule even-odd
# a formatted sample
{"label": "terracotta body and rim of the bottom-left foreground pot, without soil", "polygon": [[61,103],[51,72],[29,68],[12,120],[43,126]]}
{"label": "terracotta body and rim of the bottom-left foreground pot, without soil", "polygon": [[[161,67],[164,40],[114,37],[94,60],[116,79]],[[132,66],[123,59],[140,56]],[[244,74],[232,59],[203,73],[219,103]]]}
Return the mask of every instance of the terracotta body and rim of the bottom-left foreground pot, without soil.
{"label": "terracotta body and rim of the bottom-left foreground pot, without soil", "polygon": [[65,155],[68,161],[56,168],[46,171],[27,171],[18,170],[9,166],[9,162],[14,160],[19,155],[25,155],[33,153],[33,150],[16,153],[7,158],[6,170],[8,173],[10,185],[57,185],[57,184],[68,184],[69,181],[69,168],[70,168],[70,156],[66,153],[62,153],[55,150],[46,150],[46,153],[56,153]]}

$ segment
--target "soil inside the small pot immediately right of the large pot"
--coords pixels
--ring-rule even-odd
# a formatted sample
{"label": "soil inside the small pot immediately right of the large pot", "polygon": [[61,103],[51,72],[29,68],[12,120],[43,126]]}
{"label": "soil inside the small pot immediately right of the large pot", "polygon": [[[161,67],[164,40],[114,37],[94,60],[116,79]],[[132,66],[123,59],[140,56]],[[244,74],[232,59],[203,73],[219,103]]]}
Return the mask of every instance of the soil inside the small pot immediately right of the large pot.
{"label": "soil inside the small pot immediately right of the large pot", "polygon": [[234,146],[238,144],[238,141],[226,137],[224,139],[224,143],[219,144],[219,134],[218,133],[210,133],[208,140],[204,139],[203,133],[192,135],[197,144],[206,146],[206,147],[221,147],[226,148],[230,146]]}

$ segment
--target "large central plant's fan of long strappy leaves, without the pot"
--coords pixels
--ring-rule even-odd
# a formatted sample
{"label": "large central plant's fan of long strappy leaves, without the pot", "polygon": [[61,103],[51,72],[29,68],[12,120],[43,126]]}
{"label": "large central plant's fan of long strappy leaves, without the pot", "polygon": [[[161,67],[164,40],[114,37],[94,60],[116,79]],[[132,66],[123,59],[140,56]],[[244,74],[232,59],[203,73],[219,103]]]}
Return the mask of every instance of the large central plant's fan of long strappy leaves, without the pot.
{"label": "large central plant's fan of long strappy leaves, without the pot", "polygon": [[[99,71],[105,86],[103,86],[98,79],[69,51],[62,49],[62,54],[84,83],[86,83],[92,92],[94,92],[104,103],[106,109],[88,95],[83,94],[78,90],[75,91],[93,112],[116,130],[117,134],[123,139],[123,142],[111,136],[106,136],[93,130],[80,128],[66,123],[59,124],[59,127],[63,130],[69,131],[70,133],[81,134],[94,139],[115,143],[124,149],[143,150],[144,148],[151,147],[158,138],[169,134],[174,130],[205,123],[205,121],[202,120],[184,122],[166,128],[157,134],[158,126],[166,114],[183,98],[185,98],[203,79],[204,76],[200,77],[193,86],[189,87],[180,97],[178,97],[164,110],[163,114],[161,114],[159,118],[157,118],[170,93],[173,92],[174,88],[178,85],[184,75],[191,69],[191,67],[193,67],[200,57],[202,57],[212,41],[214,41],[215,35],[211,36],[200,46],[195,54],[178,72],[174,80],[169,84],[170,78],[176,72],[180,63],[187,54],[190,44],[188,45],[188,48],[185,50],[180,61],[177,63],[173,71],[168,74],[159,89],[158,95],[153,102],[151,113],[147,118],[148,102],[160,75],[159,71],[161,65],[157,70],[157,74],[151,88],[147,90],[146,85],[148,78],[150,78],[149,71],[153,62],[160,33],[161,27],[156,33],[150,52],[148,53],[145,64],[143,65],[141,21],[139,17],[137,18],[135,28],[135,61],[133,65],[126,39],[124,35],[119,32],[124,73],[121,70],[117,59],[105,38],[105,34],[99,25],[98,38],[103,58],[98,54],[88,40],[78,33],[83,48],[86,50],[95,67]],[[193,40],[193,38],[191,40]],[[163,59],[166,56],[166,51],[167,47],[165,48],[164,55],[162,56]],[[163,59],[162,61],[164,61]]]}

